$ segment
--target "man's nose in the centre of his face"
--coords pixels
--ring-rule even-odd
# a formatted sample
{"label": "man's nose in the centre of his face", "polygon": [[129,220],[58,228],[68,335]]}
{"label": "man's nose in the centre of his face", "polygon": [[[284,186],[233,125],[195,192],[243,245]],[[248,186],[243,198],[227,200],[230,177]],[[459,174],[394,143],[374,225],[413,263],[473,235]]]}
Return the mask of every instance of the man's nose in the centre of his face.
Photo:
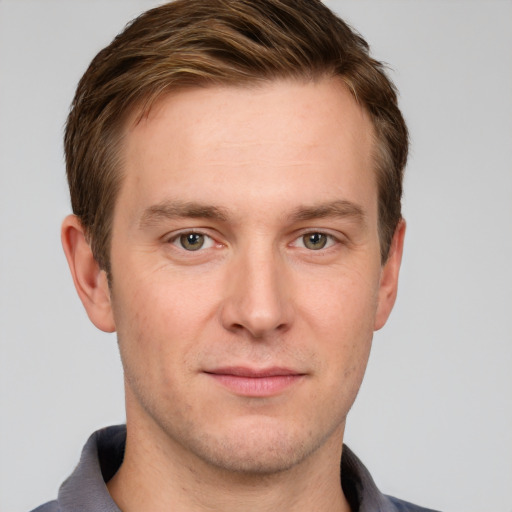
{"label": "man's nose in the centre of his face", "polygon": [[293,306],[286,264],[279,255],[248,248],[231,263],[221,310],[224,328],[260,339],[288,330]]}

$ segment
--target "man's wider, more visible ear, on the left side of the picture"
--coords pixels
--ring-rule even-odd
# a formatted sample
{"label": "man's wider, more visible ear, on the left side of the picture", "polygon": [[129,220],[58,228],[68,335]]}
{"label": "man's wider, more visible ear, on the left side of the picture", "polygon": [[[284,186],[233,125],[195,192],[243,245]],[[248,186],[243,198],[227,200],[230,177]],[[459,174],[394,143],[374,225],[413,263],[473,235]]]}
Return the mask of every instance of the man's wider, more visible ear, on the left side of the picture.
{"label": "man's wider, more visible ear, on the left side of the picture", "polygon": [[75,215],[68,215],[62,223],[62,247],[76,291],[91,322],[102,331],[116,330],[107,275],[94,259],[82,223]]}

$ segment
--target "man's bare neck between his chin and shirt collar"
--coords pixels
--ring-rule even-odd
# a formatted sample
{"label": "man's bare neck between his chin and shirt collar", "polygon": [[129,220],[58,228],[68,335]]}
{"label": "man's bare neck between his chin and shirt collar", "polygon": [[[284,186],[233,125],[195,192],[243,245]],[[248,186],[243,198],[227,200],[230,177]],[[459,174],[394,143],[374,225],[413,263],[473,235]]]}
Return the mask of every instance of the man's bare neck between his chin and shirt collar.
{"label": "man's bare neck between his chin and shirt collar", "polygon": [[129,417],[127,425],[123,464],[107,484],[123,512],[350,512],[340,483],[342,432],[288,470],[246,474],[212,467]]}

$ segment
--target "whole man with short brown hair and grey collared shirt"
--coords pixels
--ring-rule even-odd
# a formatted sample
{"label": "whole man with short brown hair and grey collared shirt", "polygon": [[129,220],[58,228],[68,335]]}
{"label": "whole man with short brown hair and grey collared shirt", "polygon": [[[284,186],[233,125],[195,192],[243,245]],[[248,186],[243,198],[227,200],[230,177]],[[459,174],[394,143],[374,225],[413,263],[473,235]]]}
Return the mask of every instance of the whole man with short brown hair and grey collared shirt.
{"label": "whole man with short brown hair and grey collared shirt", "polygon": [[62,241],[117,332],[127,424],[37,510],[425,510],[343,446],[396,297],[407,145],[382,66],[314,0],[181,0],[102,50]]}

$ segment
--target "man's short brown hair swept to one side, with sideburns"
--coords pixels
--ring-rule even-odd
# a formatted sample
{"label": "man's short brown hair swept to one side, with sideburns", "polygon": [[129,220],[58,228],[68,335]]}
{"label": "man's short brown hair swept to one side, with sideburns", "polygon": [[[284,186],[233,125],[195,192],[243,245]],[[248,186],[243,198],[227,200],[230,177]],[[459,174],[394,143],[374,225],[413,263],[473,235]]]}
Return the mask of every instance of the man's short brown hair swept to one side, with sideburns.
{"label": "man's short brown hair swept to one side, with sideburns", "polygon": [[110,271],[126,118],[177,87],[340,77],[375,130],[385,261],[401,219],[408,135],[393,83],[366,41],[319,0],[177,0],[133,20],[78,84],[65,133],[73,212]]}

